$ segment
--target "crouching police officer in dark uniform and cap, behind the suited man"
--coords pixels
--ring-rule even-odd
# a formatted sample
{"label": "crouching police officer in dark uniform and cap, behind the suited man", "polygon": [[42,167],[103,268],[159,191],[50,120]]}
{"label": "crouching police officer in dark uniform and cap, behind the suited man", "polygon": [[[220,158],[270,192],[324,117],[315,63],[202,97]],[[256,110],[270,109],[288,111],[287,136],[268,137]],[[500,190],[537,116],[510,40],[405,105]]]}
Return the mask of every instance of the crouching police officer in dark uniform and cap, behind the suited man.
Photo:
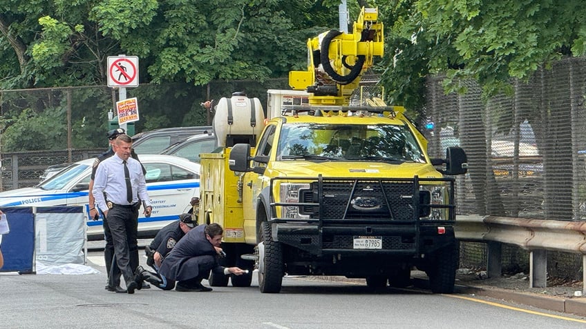
{"label": "crouching police officer in dark uniform and cap, behind the suited man", "polygon": [[155,239],[151,241],[151,244],[144,248],[144,252],[147,253],[147,265],[151,266],[155,272],[145,270],[142,266],[138,266],[134,275],[135,281],[139,286],[143,281],[148,281],[162,290],[172,290],[175,288],[175,281],[160,275],[159,268],[164,257],[171,252],[176,243],[196,225],[196,215],[182,214],[179,215],[178,221],[173,221],[173,223],[161,228],[155,236]]}

